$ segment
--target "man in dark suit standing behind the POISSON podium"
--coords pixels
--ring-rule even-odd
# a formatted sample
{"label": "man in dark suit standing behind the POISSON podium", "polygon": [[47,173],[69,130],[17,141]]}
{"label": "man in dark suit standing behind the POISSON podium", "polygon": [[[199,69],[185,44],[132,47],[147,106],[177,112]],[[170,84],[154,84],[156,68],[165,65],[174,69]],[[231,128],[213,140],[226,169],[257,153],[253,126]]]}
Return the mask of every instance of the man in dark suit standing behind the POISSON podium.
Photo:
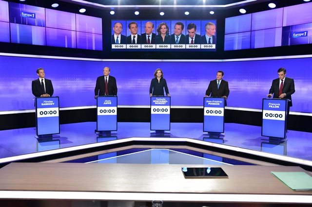
{"label": "man in dark suit standing behind the POISSON podium", "polygon": [[226,106],[226,100],[229,97],[230,90],[229,83],[222,79],[223,75],[224,72],[221,70],[216,73],[216,79],[210,81],[208,89],[206,90],[206,96],[211,95],[211,97],[222,97],[225,99],[224,105]]}

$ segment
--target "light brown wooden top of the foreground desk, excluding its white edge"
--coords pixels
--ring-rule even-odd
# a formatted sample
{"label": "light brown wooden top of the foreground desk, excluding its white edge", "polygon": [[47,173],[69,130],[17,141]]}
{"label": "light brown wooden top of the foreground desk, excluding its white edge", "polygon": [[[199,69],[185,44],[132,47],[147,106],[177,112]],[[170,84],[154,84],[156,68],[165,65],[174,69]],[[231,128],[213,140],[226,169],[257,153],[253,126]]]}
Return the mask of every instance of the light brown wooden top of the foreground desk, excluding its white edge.
{"label": "light brown wooden top of the foreground desk, excluding its white edge", "polygon": [[203,165],[10,163],[0,169],[0,191],[309,195],[312,203],[312,191],[293,191],[271,174],[306,172],[300,167],[206,165],[229,178],[204,179],[185,179],[181,167]]}

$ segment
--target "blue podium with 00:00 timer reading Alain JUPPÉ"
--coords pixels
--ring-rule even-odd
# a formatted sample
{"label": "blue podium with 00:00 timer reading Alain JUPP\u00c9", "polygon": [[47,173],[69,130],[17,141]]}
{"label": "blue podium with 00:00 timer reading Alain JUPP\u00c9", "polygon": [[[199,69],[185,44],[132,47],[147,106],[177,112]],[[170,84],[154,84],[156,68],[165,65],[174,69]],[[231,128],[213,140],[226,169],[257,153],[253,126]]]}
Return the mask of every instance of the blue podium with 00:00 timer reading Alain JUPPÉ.
{"label": "blue podium with 00:00 timer reading Alain JUPP\u00c9", "polygon": [[98,96],[96,131],[99,134],[117,131],[117,96]]}

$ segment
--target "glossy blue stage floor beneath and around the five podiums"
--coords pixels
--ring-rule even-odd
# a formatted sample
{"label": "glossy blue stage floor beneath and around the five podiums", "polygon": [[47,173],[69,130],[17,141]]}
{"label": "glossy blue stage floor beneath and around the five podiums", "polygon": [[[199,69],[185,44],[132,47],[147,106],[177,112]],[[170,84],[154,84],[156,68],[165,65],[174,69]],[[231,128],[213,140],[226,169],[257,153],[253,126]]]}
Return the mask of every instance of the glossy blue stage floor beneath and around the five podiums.
{"label": "glossy blue stage floor beneath and around the five podiums", "polygon": [[[0,158],[24,155],[44,150],[66,148],[108,140],[98,138],[96,122],[63,124],[60,134],[52,139],[36,138],[34,128],[0,131]],[[207,136],[202,123],[171,123],[168,134],[151,134],[150,123],[119,122],[114,139],[131,137],[193,138],[225,145],[270,152],[279,155],[312,160],[312,133],[289,131],[284,142],[261,137],[261,127],[225,123],[224,137]]]}

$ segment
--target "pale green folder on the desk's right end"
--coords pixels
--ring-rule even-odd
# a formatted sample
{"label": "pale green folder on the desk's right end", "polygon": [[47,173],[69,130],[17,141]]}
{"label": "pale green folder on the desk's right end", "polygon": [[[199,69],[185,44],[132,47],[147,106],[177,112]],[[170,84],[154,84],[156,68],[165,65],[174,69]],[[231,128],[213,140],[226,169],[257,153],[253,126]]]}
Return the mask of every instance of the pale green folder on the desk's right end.
{"label": "pale green folder on the desk's right end", "polygon": [[304,172],[271,172],[292,190],[312,190],[312,176]]}

